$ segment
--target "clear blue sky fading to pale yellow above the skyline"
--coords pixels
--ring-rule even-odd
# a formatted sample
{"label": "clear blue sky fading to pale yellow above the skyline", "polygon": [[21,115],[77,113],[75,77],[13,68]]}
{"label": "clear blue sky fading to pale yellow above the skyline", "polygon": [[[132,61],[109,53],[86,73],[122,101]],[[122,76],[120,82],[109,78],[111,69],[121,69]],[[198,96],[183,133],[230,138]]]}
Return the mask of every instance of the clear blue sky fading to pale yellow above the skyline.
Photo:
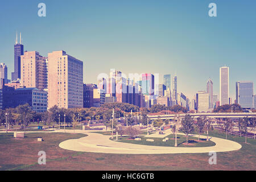
{"label": "clear blue sky fading to pale yellow above the skyline", "polygon": [[[46,17],[38,4],[46,4]],[[210,17],[209,3],[217,17]],[[16,31],[24,51],[47,56],[64,50],[84,61],[84,82],[100,73],[177,76],[177,91],[193,98],[213,80],[219,95],[220,67],[230,71],[230,97],[236,81],[256,82],[256,1],[254,0],[9,0],[0,6],[0,62],[14,71]],[[255,91],[254,91],[255,94]]]}

